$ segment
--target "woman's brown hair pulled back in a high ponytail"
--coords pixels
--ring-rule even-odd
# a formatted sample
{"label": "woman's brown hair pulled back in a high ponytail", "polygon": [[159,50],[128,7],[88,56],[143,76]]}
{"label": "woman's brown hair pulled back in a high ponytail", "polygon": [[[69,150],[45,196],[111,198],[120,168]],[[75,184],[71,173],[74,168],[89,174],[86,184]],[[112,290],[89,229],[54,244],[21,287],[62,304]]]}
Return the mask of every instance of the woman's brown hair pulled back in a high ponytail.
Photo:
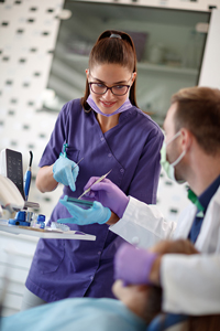
{"label": "woman's brown hair pulled back in a high ponytail", "polygon": [[[120,64],[129,68],[132,73],[136,72],[136,52],[131,36],[121,31],[107,30],[100,34],[89,55],[89,70],[99,64]],[[136,81],[133,82],[130,89],[130,102],[133,106],[136,104]],[[89,110],[87,104],[89,96],[89,84],[86,81],[85,95],[81,98],[81,105],[85,110]]]}

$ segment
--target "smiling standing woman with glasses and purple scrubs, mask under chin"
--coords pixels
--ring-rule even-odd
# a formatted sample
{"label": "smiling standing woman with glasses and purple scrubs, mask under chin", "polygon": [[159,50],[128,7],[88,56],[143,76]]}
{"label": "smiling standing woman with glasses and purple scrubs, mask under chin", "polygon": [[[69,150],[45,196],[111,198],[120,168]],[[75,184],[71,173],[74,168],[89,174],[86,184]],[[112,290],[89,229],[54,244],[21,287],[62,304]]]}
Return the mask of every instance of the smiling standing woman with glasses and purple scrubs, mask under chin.
{"label": "smiling standing woman with glasses and purple scrubs, mask under chin", "polygon": [[[136,56],[131,38],[119,31],[103,32],[91,50],[86,75],[85,96],[68,102],[58,115],[40,161],[37,188],[53,191],[62,182],[62,197],[78,197],[91,175],[111,170],[108,178],[125,194],[155,203],[163,134],[136,106]],[[59,156],[64,143],[66,151]],[[113,298],[113,257],[124,241],[101,224],[118,216],[99,207],[101,214],[95,222],[100,224],[68,224],[96,235],[96,242],[40,239],[22,309],[69,297]],[[50,222],[68,217],[58,202]]]}

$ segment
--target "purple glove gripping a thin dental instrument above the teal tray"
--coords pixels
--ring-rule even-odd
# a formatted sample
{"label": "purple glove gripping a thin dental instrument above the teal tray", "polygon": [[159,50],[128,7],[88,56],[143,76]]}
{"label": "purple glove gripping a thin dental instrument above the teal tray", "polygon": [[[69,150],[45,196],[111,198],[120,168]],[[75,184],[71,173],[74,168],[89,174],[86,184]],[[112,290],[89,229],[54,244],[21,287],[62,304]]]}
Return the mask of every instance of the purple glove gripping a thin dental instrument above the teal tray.
{"label": "purple glove gripping a thin dental instrument above the teal tray", "polygon": [[121,218],[129,203],[129,197],[109,179],[94,184],[98,179],[99,177],[90,178],[84,190],[86,191],[91,185],[92,188],[85,196],[92,201],[99,201]]}

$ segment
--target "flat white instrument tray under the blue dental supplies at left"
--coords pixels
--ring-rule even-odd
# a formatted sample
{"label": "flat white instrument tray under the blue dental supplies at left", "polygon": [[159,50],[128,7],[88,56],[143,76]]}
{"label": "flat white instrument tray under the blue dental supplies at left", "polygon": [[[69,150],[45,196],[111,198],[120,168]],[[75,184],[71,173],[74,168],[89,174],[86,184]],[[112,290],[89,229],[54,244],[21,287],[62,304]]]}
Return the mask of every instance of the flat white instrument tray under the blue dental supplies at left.
{"label": "flat white instrument tray under the blue dental supplies at left", "polygon": [[96,241],[96,236],[79,231],[62,231],[59,228],[38,228],[32,226],[20,226],[8,224],[7,220],[0,220],[0,231],[9,232],[16,235],[35,236],[47,239],[78,239]]}

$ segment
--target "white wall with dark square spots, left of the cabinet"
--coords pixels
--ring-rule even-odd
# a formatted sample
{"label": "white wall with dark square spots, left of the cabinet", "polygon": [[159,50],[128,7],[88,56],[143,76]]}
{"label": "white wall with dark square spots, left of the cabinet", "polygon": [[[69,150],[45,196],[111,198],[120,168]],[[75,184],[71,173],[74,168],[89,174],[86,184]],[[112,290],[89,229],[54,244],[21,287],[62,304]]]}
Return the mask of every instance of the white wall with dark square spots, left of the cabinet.
{"label": "white wall with dark square spots, left of the cabinet", "polygon": [[[33,151],[33,178],[57,115],[41,113],[59,28],[63,0],[7,0],[0,2],[0,150],[22,152],[24,171]],[[59,190],[40,194],[30,190],[30,201],[51,213]],[[51,202],[51,203],[50,203]]]}

